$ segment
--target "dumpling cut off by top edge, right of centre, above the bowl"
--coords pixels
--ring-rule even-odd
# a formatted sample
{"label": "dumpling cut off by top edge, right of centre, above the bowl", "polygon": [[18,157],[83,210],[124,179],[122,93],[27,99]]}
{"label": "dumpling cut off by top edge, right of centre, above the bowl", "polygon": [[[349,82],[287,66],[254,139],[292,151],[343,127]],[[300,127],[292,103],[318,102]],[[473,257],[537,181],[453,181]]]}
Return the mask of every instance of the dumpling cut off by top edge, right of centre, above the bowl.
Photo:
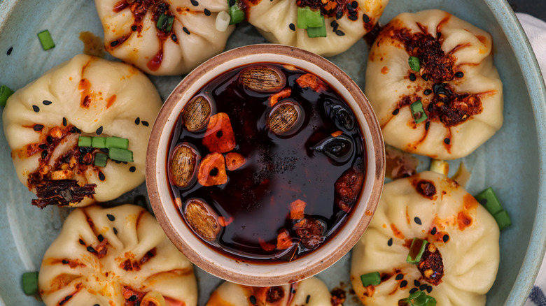
{"label": "dumpling cut off by top edge, right of centre, above the bowl", "polygon": [[[243,0],[243,3],[247,6],[248,22],[268,41],[329,57],[349,49],[371,31],[388,0]],[[358,3],[358,6],[355,8],[352,3]],[[321,10],[326,37],[309,38],[306,29],[297,27],[298,6]]]}

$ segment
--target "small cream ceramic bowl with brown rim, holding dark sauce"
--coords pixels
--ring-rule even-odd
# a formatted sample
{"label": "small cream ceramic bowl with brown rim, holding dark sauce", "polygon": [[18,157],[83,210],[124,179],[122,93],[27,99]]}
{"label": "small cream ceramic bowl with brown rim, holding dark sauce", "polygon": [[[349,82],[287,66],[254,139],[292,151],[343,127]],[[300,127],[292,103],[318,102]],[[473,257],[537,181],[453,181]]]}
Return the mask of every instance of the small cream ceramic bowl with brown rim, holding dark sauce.
{"label": "small cream ceramic bowl with brown rim, holding dark sauce", "polygon": [[[289,64],[314,73],[328,82],[353,110],[363,133],[366,150],[365,184],[360,202],[341,230],[325,245],[294,261],[246,263],[216,252],[197,238],[181,219],[167,180],[167,156],[171,131],[184,105],[207,82],[239,66],[255,63]],[[349,252],[372,219],[384,180],[384,144],[377,118],[363,92],[341,69],[316,54],[283,45],[251,45],[210,59],[190,73],[174,89],[155,120],[148,144],[146,185],[155,216],[167,236],[190,261],[203,270],[248,286],[276,286],[316,275]]]}

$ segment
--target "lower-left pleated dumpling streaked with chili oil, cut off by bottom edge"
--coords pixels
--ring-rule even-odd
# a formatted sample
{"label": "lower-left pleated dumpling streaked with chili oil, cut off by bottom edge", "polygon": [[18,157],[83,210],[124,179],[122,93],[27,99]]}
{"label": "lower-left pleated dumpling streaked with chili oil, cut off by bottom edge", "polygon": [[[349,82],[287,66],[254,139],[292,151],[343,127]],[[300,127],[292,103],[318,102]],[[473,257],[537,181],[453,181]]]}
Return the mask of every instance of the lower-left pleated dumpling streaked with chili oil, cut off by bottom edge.
{"label": "lower-left pleated dumpling streaked with chili oil, cut off by bottom edge", "polygon": [[43,256],[38,286],[48,306],[197,305],[193,265],[136,205],[73,210]]}

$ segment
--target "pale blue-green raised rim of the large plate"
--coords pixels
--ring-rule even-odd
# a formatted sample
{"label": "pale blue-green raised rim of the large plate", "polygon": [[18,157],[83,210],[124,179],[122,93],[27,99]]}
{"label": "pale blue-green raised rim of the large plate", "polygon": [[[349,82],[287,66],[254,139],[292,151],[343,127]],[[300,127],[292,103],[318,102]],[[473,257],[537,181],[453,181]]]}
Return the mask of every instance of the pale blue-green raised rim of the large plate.
{"label": "pale blue-green raised rim of the large plate", "polygon": [[[8,17],[20,0],[0,2],[0,32],[6,26]],[[519,269],[516,282],[508,295],[505,305],[517,305],[526,300],[546,252],[546,173],[543,169],[546,158],[546,86],[538,66],[538,61],[528,38],[516,15],[506,0],[484,0],[491,13],[507,36],[519,68],[523,72],[527,92],[531,99],[538,138],[538,158],[540,162],[537,209],[531,239],[525,258]]]}

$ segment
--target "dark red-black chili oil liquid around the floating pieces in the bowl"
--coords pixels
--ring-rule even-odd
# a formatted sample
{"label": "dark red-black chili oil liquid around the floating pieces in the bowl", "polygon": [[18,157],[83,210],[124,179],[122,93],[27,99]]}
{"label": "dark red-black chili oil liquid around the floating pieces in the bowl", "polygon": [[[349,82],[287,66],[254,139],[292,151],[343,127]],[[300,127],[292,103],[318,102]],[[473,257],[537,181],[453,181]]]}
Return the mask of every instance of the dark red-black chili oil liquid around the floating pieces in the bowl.
{"label": "dark red-black chili oil liquid around the floating pieces in the bowl", "polygon": [[[278,103],[286,100],[297,101],[304,110],[304,122],[293,135],[277,136],[267,127],[267,116],[272,110],[268,98],[275,92],[253,92],[239,82],[241,71],[251,66],[269,66],[286,76],[286,85],[283,88],[290,87],[292,91],[288,98],[281,99]],[[335,192],[338,179],[344,173],[354,171],[353,169],[357,169],[361,177],[365,177],[367,167],[363,133],[353,111],[335,89],[324,81],[325,87],[318,92],[311,88],[302,89],[296,80],[307,74],[307,71],[293,66],[286,67],[283,64],[259,63],[234,68],[218,75],[195,94],[209,97],[213,115],[225,112],[230,117],[237,142],[231,152],[242,154],[246,163],[237,170],[226,169],[226,184],[202,186],[195,180],[199,165],[196,166],[193,183],[188,187],[179,188],[171,184],[173,203],[182,220],[185,220],[184,207],[192,198],[198,198],[210,205],[224,220],[232,220],[221,228],[213,242],[201,240],[217,252],[238,261],[290,261],[321,247],[349,218],[365,184],[361,180],[360,188],[356,187],[358,194],[355,201],[348,204],[348,209],[345,207],[347,212],[339,208],[342,205],[339,204],[339,196]],[[333,108],[346,111],[342,116],[344,120],[333,115]],[[183,112],[171,133],[169,151],[180,143],[190,143],[197,148],[202,160],[210,153],[202,143],[207,127],[196,133],[188,131],[183,126],[182,114]],[[352,126],[344,124],[347,122],[353,122]],[[311,149],[321,140],[332,137],[332,133],[339,131],[344,136],[349,136],[353,142],[354,150],[348,161],[340,163],[323,152]],[[169,156],[170,152],[166,156],[167,161]],[[168,166],[166,170],[169,173]],[[166,180],[169,180],[168,174]],[[290,219],[290,203],[296,200],[307,203],[304,208],[306,218],[318,220],[324,227],[318,247],[304,247],[295,233],[296,221]],[[176,202],[181,203],[181,207]],[[186,225],[188,226],[187,223]],[[191,226],[188,228],[192,229]],[[292,247],[281,250],[274,248],[270,251],[260,247],[260,240],[269,246],[276,246],[277,235],[283,229],[290,233]]]}

